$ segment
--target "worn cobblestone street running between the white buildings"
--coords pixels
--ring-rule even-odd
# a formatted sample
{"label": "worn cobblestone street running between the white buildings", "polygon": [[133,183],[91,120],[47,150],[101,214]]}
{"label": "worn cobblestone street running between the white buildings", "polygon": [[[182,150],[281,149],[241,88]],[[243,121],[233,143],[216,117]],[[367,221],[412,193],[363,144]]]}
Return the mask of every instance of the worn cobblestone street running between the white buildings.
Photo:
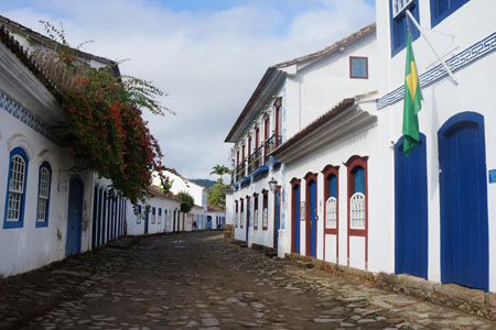
{"label": "worn cobblestone street running between the white buildings", "polygon": [[142,238],[0,282],[0,329],[495,329],[218,232]]}

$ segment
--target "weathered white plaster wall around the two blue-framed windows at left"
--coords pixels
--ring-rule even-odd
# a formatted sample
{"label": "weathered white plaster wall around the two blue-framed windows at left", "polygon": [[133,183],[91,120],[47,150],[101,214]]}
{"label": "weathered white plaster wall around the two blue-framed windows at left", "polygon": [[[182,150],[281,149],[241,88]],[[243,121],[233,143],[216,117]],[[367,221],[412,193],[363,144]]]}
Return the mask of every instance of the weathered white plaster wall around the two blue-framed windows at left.
{"label": "weathered white plaster wall around the two blue-framed windows at left", "polygon": [[[34,130],[0,109],[0,274],[10,276],[28,272],[65,257],[67,229],[67,198],[69,167],[74,165],[71,151],[63,150]],[[11,150],[21,146],[29,157],[24,224],[3,229],[7,179]],[[37,206],[39,167],[47,161],[52,167],[48,227],[35,228]],[[85,185],[84,219],[89,217],[91,182],[82,176]],[[86,222],[85,222],[86,223]],[[88,249],[88,227],[84,226],[82,251]]]}

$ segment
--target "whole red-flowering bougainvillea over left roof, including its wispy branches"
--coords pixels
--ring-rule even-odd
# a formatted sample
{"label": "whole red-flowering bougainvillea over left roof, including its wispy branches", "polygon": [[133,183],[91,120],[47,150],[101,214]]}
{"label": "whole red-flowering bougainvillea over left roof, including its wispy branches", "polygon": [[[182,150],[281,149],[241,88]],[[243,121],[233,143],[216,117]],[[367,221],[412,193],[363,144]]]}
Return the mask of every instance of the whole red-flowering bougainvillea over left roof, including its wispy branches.
{"label": "whole red-flowering bougainvillea over left roof, including its wispy branches", "polygon": [[117,76],[112,67],[90,67],[78,57],[78,47],[68,45],[63,29],[42,23],[53,43],[36,47],[33,56],[67,113],[65,141],[99,176],[112,180],[115,193],[132,202],[143,199],[152,173],[162,173],[163,155],[142,111],[170,111],[155,100],[163,92],[147,80]]}

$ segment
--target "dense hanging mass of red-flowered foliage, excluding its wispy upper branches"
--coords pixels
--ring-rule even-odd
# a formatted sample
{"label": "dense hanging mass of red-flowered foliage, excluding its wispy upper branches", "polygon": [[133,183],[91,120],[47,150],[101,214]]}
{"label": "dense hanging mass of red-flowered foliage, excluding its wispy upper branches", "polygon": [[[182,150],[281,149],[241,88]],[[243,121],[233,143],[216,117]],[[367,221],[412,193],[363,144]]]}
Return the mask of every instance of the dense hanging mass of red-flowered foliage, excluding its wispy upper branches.
{"label": "dense hanging mass of red-flowered foliage, excluding its wispy upper branches", "polygon": [[131,201],[142,199],[152,173],[164,167],[159,143],[128,90],[139,81],[119,84],[107,72],[90,70],[76,84],[84,88],[65,94],[63,102],[69,118],[67,138],[100,176],[112,180],[118,193]]}

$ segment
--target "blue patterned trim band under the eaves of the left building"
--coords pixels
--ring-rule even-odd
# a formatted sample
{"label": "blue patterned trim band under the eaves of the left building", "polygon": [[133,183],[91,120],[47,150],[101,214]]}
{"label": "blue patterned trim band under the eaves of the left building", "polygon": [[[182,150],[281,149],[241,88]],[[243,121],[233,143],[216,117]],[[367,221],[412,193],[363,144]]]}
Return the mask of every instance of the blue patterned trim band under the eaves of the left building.
{"label": "blue patterned trim band under the eaves of the left building", "polygon": [[53,143],[57,145],[62,144],[62,139],[58,134],[51,130],[46,124],[42,123],[36,117],[28,111],[28,109],[20,106],[2,90],[0,90],[0,109],[3,109],[8,113],[12,114],[13,118],[26,124],[33,131],[40,133]]}

